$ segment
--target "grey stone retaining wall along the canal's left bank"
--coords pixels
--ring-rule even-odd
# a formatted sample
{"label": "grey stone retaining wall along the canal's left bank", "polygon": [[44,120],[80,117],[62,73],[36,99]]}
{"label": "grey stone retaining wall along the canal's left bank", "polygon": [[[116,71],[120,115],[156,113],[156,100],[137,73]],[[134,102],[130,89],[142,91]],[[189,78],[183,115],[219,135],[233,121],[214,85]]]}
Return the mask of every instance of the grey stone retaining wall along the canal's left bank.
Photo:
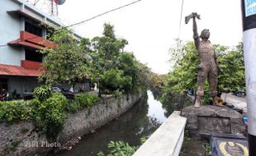
{"label": "grey stone retaining wall along the canal's left bank", "polygon": [[64,122],[64,130],[57,143],[46,140],[31,121],[0,123],[0,155],[45,155],[50,150],[59,149],[69,140],[86,135],[110,122],[137,103],[142,94],[123,95],[118,99],[108,99],[76,113],[69,113]]}

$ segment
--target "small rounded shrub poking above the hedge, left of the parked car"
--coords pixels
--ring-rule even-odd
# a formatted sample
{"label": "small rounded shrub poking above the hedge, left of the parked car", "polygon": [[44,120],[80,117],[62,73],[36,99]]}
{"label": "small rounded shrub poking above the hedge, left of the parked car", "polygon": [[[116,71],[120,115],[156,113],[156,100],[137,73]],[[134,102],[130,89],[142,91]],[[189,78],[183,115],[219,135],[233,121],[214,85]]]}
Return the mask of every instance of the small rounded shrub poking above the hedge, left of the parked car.
{"label": "small rounded shrub poking above the hedge, left of the parked car", "polygon": [[50,85],[41,85],[40,87],[37,87],[34,91],[34,97],[36,99],[39,99],[40,101],[50,98],[51,94],[52,87]]}

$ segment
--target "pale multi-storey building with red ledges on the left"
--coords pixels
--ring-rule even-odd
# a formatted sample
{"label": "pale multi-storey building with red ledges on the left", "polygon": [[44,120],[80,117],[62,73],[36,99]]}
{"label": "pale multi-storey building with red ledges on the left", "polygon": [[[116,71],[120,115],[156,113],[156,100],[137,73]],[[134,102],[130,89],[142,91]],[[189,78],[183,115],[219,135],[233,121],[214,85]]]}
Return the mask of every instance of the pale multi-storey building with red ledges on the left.
{"label": "pale multi-storey building with red ledges on the left", "polygon": [[38,50],[55,47],[46,39],[44,25],[52,29],[64,25],[25,0],[0,0],[0,7],[0,93],[31,92],[41,74],[43,55]]}

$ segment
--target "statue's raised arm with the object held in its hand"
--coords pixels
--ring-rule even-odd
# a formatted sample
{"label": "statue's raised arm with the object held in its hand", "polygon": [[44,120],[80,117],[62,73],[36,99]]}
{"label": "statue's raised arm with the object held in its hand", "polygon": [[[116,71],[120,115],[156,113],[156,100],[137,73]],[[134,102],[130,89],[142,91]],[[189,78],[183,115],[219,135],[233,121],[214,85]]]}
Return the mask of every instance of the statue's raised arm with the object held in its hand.
{"label": "statue's raised arm with the object held in its hand", "polygon": [[198,32],[197,32],[196,18],[200,20],[200,15],[198,15],[197,12],[192,12],[192,14],[185,17],[185,23],[187,24],[190,19],[193,19],[193,38],[194,38],[195,46],[198,49],[200,39],[199,39],[199,35],[198,35]]}

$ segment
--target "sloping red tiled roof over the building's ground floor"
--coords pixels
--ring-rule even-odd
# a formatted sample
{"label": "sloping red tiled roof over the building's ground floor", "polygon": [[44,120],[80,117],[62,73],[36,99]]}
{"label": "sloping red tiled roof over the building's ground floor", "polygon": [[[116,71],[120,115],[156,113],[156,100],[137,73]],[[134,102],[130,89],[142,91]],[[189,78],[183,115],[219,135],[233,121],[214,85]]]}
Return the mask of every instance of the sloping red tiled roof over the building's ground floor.
{"label": "sloping red tiled roof over the building's ground floor", "polygon": [[0,64],[0,76],[40,76],[39,70],[28,70],[23,67]]}

